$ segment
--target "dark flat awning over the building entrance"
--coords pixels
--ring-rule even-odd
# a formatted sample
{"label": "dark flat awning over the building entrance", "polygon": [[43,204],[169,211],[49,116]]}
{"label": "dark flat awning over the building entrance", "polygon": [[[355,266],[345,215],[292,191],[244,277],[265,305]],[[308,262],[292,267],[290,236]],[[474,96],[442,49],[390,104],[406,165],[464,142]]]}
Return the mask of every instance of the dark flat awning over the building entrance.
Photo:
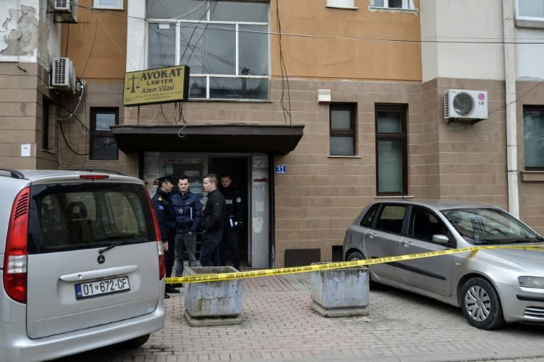
{"label": "dark flat awning over the building entrance", "polygon": [[303,125],[203,124],[111,126],[118,148],[140,151],[285,154],[302,138]]}

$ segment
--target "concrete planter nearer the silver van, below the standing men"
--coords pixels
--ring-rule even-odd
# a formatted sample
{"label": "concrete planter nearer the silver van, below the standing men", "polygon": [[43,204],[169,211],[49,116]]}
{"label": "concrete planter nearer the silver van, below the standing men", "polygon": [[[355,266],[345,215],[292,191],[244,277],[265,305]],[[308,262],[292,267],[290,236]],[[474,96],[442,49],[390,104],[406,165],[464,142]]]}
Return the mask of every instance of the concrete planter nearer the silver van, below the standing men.
{"label": "concrete planter nearer the silver van, below the standing men", "polygon": [[[186,267],[183,276],[236,273],[233,267]],[[185,284],[185,319],[192,327],[242,323],[242,280]]]}

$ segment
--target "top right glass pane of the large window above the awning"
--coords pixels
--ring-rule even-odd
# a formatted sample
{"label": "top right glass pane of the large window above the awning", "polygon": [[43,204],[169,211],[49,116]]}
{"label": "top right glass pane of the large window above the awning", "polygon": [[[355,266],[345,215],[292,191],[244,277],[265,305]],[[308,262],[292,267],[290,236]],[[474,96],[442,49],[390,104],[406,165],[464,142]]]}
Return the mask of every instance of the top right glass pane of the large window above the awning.
{"label": "top right glass pane of the large window above the awning", "polygon": [[252,21],[268,23],[268,4],[249,1],[213,1],[211,21]]}

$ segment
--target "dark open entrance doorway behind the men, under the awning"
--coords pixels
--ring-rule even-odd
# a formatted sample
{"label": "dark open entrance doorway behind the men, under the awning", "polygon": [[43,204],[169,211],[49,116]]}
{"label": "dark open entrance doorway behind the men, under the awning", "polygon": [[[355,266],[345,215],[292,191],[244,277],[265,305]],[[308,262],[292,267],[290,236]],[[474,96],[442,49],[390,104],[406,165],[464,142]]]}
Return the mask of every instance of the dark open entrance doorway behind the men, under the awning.
{"label": "dark open entrance doorway behind the men, under the awning", "polygon": [[[238,230],[238,251],[240,267],[249,267],[249,158],[248,157],[208,157],[208,173],[215,173],[220,182],[221,175],[229,175],[232,186],[242,195],[242,207],[244,209],[244,227]],[[227,265],[232,265],[232,258],[227,254]]]}

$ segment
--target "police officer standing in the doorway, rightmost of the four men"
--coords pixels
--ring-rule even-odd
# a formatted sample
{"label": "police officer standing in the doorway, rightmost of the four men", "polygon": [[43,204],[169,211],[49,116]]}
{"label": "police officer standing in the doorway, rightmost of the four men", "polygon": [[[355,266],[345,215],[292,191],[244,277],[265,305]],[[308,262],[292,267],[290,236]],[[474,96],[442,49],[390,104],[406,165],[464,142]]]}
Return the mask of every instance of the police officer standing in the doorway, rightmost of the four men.
{"label": "police officer standing in the doorway, rightmost of the four men", "polygon": [[238,230],[244,224],[244,204],[242,195],[231,185],[232,179],[229,175],[221,176],[221,193],[225,197],[226,217],[223,226],[223,237],[221,240],[220,263],[225,266],[225,251],[230,250],[232,267],[240,269],[240,257],[238,252]]}

